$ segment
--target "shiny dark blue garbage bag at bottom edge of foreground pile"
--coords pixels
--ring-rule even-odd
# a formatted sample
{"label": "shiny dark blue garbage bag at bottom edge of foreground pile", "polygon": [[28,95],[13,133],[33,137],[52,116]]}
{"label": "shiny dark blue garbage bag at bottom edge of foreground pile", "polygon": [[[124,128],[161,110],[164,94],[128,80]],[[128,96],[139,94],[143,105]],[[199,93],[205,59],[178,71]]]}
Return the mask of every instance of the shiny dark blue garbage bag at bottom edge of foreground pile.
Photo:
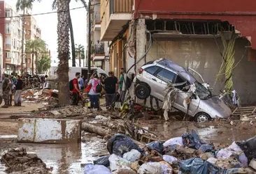
{"label": "shiny dark blue garbage bag at bottom edge of foreground pile", "polygon": [[180,161],[179,163],[181,173],[190,174],[217,174],[222,173],[222,169],[214,166],[208,161],[204,161],[201,158],[191,158]]}

